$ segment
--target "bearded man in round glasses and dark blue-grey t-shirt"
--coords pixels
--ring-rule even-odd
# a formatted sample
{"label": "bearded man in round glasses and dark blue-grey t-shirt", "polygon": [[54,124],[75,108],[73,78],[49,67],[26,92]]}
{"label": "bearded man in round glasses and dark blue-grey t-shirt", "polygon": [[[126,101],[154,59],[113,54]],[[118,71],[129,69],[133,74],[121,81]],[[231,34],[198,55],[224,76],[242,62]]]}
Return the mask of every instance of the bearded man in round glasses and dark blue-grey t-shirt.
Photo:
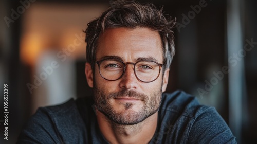
{"label": "bearded man in round glasses and dark blue-grey t-shirt", "polygon": [[94,100],[41,107],[18,143],[236,143],[213,107],[182,91],[163,93],[174,25],[152,4],[114,2],[85,31]]}

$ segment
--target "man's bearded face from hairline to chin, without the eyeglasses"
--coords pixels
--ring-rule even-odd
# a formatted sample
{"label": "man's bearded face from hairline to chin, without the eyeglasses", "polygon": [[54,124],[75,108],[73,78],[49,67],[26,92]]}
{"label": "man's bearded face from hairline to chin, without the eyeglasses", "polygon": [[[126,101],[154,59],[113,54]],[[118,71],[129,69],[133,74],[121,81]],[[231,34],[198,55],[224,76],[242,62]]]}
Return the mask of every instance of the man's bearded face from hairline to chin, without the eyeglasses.
{"label": "man's bearded face from hairline to chin, without the eyeglasses", "polygon": [[[97,61],[106,57],[119,57],[123,62],[135,63],[139,59],[163,62],[159,33],[149,28],[106,29],[98,43]],[[136,78],[133,68],[133,65],[127,65],[124,75],[116,81],[102,78],[97,64],[94,76],[86,71],[87,81],[91,81],[88,82],[89,86],[94,85],[97,109],[118,124],[137,124],[157,112],[161,93],[168,83],[169,69],[165,71],[164,77],[161,69],[158,79],[145,83]],[[90,77],[94,77],[93,82]]]}

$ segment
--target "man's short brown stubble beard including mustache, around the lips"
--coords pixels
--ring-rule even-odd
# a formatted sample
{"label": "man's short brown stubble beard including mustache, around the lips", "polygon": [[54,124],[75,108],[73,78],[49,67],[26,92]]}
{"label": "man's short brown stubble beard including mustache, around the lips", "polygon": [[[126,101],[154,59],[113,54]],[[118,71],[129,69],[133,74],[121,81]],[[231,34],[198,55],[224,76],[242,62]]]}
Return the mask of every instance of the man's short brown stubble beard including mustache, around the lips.
{"label": "man's short brown stubble beard including mustache, around the lips", "polygon": [[[134,103],[122,103],[124,111],[116,112],[112,107],[111,101],[119,97],[133,97],[142,100],[143,106],[139,111],[135,112],[132,109]],[[142,122],[149,116],[153,115],[159,110],[161,103],[161,88],[157,92],[153,92],[150,96],[140,94],[136,91],[127,91],[123,89],[119,92],[112,92],[105,94],[103,90],[94,87],[94,98],[97,109],[103,113],[109,120],[121,125],[134,125]],[[127,112],[126,112],[127,111]]]}

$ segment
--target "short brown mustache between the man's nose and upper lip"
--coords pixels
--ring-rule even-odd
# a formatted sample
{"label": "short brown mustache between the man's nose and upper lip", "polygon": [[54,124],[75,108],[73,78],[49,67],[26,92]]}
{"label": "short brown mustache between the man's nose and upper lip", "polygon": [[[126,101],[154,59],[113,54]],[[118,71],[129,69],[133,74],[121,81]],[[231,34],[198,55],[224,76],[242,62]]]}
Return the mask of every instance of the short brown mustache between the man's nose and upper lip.
{"label": "short brown mustache between the man's nose and upper lip", "polygon": [[126,89],[123,89],[122,91],[119,91],[119,92],[110,93],[107,99],[112,99],[112,98],[115,99],[115,98],[121,98],[121,97],[132,97],[140,100],[148,100],[147,95],[138,93],[133,90],[127,91]]}

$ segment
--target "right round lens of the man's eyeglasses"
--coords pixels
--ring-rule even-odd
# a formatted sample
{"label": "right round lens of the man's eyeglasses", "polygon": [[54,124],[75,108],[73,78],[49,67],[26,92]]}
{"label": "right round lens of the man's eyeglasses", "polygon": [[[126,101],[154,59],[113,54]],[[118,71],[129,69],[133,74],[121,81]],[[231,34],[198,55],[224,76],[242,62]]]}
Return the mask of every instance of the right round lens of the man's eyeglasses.
{"label": "right round lens of the man's eyeglasses", "polygon": [[155,80],[160,73],[160,67],[157,63],[151,61],[141,61],[135,65],[137,78],[144,82]]}

